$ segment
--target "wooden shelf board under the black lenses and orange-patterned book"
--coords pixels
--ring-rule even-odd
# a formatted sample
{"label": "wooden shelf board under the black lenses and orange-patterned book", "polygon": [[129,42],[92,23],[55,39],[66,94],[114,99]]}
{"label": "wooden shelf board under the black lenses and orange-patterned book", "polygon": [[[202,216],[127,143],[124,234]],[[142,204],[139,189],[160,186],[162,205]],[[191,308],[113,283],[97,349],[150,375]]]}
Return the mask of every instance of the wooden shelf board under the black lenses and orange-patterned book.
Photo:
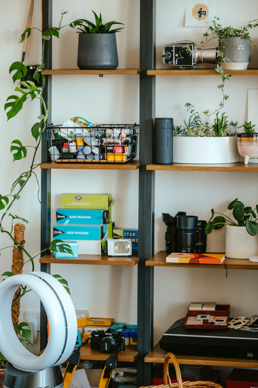
{"label": "wooden shelf board under the black lenses and orange-patterned book", "polygon": [[[166,251],[159,251],[152,258],[145,261],[147,267],[186,267],[186,268],[217,268],[225,269],[223,264],[177,264],[166,263]],[[226,258],[227,269],[258,269],[258,263],[249,262],[248,259],[230,259]]]}

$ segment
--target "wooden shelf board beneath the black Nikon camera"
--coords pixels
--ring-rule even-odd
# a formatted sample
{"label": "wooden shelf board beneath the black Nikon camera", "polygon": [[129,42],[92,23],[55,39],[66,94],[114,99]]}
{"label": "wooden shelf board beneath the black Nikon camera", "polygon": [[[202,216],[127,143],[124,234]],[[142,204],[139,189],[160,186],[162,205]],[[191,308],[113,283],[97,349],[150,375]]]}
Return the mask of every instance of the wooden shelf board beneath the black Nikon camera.
{"label": "wooden shelf board beneath the black Nikon camera", "polygon": [[[80,350],[80,360],[106,361],[109,356],[110,354],[103,353],[101,350],[91,350],[91,344],[82,346]],[[137,346],[125,346],[125,350],[118,353],[118,361],[133,362],[137,357]]]}

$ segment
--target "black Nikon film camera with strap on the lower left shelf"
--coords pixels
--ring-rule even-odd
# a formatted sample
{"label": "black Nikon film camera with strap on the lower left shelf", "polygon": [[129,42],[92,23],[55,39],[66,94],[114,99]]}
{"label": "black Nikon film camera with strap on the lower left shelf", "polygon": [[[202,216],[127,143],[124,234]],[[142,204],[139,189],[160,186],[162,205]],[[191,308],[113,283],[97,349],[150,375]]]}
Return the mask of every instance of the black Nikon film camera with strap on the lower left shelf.
{"label": "black Nikon film camera with strap on the lower left shelf", "polygon": [[109,327],[106,331],[95,330],[91,333],[91,349],[111,353],[113,350],[125,350],[125,336],[121,331]]}

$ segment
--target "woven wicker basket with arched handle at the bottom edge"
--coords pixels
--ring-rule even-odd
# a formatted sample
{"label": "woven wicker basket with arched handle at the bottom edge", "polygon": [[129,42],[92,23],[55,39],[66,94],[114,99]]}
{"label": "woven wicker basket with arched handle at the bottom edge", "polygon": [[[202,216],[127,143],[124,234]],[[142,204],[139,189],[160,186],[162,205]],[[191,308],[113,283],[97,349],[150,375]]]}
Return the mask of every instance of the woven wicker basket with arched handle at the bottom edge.
{"label": "woven wicker basket with arched handle at the bottom edge", "polygon": [[[170,359],[173,361],[175,371],[176,371],[177,383],[174,383],[174,384],[171,383],[171,379],[168,373],[168,366],[169,366]],[[156,385],[156,386],[151,385],[149,387],[140,387],[140,388],[152,388],[152,387],[154,388],[222,388],[221,385],[216,383],[211,383],[209,381],[194,381],[194,382],[185,381],[183,383],[178,360],[176,359],[176,356],[173,353],[167,353],[165,356],[163,378],[164,378],[164,385]]]}

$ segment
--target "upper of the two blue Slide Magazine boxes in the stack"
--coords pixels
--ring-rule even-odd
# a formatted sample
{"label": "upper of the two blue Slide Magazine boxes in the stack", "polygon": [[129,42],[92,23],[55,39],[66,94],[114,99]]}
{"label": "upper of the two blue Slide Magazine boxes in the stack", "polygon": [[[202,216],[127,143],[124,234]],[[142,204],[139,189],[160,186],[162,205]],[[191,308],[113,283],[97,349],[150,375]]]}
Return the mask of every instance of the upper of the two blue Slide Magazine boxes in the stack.
{"label": "upper of the two blue Slide Magazine boxes in the stack", "polygon": [[56,223],[106,225],[109,220],[109,209],[56,209]]}

